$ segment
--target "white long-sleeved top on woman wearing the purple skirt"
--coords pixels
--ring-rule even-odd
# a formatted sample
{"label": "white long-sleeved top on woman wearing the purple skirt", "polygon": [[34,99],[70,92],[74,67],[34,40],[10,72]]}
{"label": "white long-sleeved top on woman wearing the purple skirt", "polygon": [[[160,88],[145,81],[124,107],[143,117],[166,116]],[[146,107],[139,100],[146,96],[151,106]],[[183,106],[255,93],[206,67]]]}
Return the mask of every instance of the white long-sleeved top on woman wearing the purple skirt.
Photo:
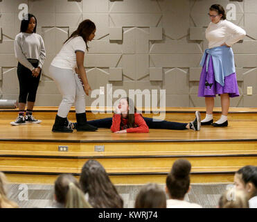
{"label": "white long-sleeved top on woman wearing the purple skirt", "polygon": [[245,30],[236,26],[232,22],[220,19],[220,22],[210,22],[208,28],[206,28],[205,36],[209,41],[209,49],[226,43],[228,46],[242,40],[245,37]]}

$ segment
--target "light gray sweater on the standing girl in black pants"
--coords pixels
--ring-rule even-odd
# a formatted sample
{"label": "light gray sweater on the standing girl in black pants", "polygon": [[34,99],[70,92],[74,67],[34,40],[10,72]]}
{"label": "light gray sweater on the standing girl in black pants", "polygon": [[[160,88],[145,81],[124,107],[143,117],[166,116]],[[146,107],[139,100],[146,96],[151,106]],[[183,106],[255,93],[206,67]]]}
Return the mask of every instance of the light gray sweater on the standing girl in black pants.
{"label": "light gray sweater on the standing girl in black pants", "polygon": [[15,57],[31,71],[35,69],[27,59],[39,60],[38,66],[42,68],[46,58],[46,50],[44,49],[44,41],[37,33],[19,33],[15,37]]}

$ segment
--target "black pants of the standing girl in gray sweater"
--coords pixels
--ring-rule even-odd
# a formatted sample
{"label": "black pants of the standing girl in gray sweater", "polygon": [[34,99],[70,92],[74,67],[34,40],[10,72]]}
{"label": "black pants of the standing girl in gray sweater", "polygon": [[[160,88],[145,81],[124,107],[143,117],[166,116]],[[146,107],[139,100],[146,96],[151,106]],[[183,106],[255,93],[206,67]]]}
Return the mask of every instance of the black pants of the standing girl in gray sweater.
{"label": "black pants of the standing girl in gray sweater", "polygon": [[[33,67],[38,67],[38,61],[28,61],[33,65]],[[35,102],[41,71],[37,77],[33,77],[32,71],[18,62],[17,76],[19,79],[19,103],[26,103],[27,98],[29,102]]]}

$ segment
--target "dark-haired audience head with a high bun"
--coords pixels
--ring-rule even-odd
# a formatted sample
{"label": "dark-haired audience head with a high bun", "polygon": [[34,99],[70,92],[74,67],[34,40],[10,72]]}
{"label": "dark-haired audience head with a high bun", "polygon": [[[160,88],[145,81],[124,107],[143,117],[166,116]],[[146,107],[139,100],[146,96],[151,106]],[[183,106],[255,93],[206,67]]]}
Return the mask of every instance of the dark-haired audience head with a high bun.
{"label": "dark-haired audience head with a high bun", "polygon": [[166,178],[166,191],[170,198],[184,200],[184,196],[190,189],[191,164],[188,160],[176,160]]}

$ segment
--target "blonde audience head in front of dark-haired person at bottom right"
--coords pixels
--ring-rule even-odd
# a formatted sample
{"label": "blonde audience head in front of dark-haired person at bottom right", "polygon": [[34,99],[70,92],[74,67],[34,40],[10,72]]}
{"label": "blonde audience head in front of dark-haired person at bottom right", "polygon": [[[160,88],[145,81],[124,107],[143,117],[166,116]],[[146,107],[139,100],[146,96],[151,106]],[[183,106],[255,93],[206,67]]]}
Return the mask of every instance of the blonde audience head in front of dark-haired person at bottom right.
{"label": "blonde audience head in front of dark-haired person at bottom right", "polygon": [[229,189],[222,194],[219,200],[220,208],[249,208],[245,191]]}

